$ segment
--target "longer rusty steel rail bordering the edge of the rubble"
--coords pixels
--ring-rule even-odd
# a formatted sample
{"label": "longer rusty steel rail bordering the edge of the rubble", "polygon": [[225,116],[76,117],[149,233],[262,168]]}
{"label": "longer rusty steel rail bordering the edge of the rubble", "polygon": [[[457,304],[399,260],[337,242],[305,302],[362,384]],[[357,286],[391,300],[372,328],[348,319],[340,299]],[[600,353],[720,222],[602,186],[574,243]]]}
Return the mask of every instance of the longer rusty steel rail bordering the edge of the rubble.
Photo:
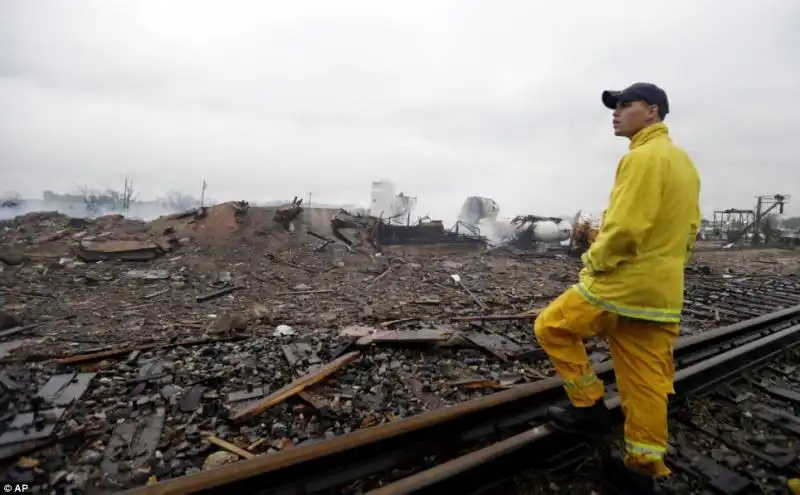
{"label": "longer rusty steel rail bordering the edge of the rubble", "polygon": [[[800,305],[681,338],[676,359],[685,366],[741,346],[800,320]],[[595,367],[608,379],[612,363]],[[242,460],[198,474],[129,490],[129,495],[318,493],[426,455],[445,453],[544,417],[547,405],[563,400],[562,381],[548,378],[486,397],[436,409],[310,445]],[[345,454],[346,453],[346,454]]]}

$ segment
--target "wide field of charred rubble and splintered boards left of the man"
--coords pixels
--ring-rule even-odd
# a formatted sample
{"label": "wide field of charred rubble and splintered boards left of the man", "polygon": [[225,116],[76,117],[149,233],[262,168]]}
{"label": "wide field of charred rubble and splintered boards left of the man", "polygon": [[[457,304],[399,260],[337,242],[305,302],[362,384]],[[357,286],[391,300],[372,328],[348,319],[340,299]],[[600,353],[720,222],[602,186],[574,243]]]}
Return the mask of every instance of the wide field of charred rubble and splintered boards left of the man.
{"label": "wide field of charred rubble and splintered boards left of the man", "polygon": [[578,260],[353,250],[310,210],[0,225],[3,479],[142,485],[552,373],[531,322]]}

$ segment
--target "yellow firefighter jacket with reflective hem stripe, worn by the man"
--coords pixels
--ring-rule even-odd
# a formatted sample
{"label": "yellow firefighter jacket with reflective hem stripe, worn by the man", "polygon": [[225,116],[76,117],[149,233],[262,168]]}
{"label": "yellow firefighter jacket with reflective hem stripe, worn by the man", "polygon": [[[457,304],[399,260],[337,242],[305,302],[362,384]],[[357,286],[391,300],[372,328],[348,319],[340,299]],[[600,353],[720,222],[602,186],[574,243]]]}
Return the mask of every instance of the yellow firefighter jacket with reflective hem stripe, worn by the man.
{"label": "yellow firefighter jacket with reflective hem stripe, worn by the man", "polygon": [[642,320],[677,323],[683,269],[700,225],[700,176],[654,124],[631,139],[617,166],[600,234],[583,256],[576,286],[596,306]]}

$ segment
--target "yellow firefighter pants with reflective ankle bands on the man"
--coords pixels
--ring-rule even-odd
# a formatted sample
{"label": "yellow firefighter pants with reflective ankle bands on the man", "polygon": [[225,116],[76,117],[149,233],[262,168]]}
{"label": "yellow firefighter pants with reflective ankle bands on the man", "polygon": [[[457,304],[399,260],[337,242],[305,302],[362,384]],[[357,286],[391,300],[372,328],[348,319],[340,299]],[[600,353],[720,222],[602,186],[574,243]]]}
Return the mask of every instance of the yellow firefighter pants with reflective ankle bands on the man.
{"label": "yellow firefighter pants with reflective ankle bands on the man", "polygon": [[570,288],[539,315],[534,331],[577,407],[591,406],[604,394],[583,339],[596,335],[608,339],[625,415],[625,464],[651,476],[670,474],[664,464],[667,396],[675,393],[672,348],[678,324],[619,316]]}

